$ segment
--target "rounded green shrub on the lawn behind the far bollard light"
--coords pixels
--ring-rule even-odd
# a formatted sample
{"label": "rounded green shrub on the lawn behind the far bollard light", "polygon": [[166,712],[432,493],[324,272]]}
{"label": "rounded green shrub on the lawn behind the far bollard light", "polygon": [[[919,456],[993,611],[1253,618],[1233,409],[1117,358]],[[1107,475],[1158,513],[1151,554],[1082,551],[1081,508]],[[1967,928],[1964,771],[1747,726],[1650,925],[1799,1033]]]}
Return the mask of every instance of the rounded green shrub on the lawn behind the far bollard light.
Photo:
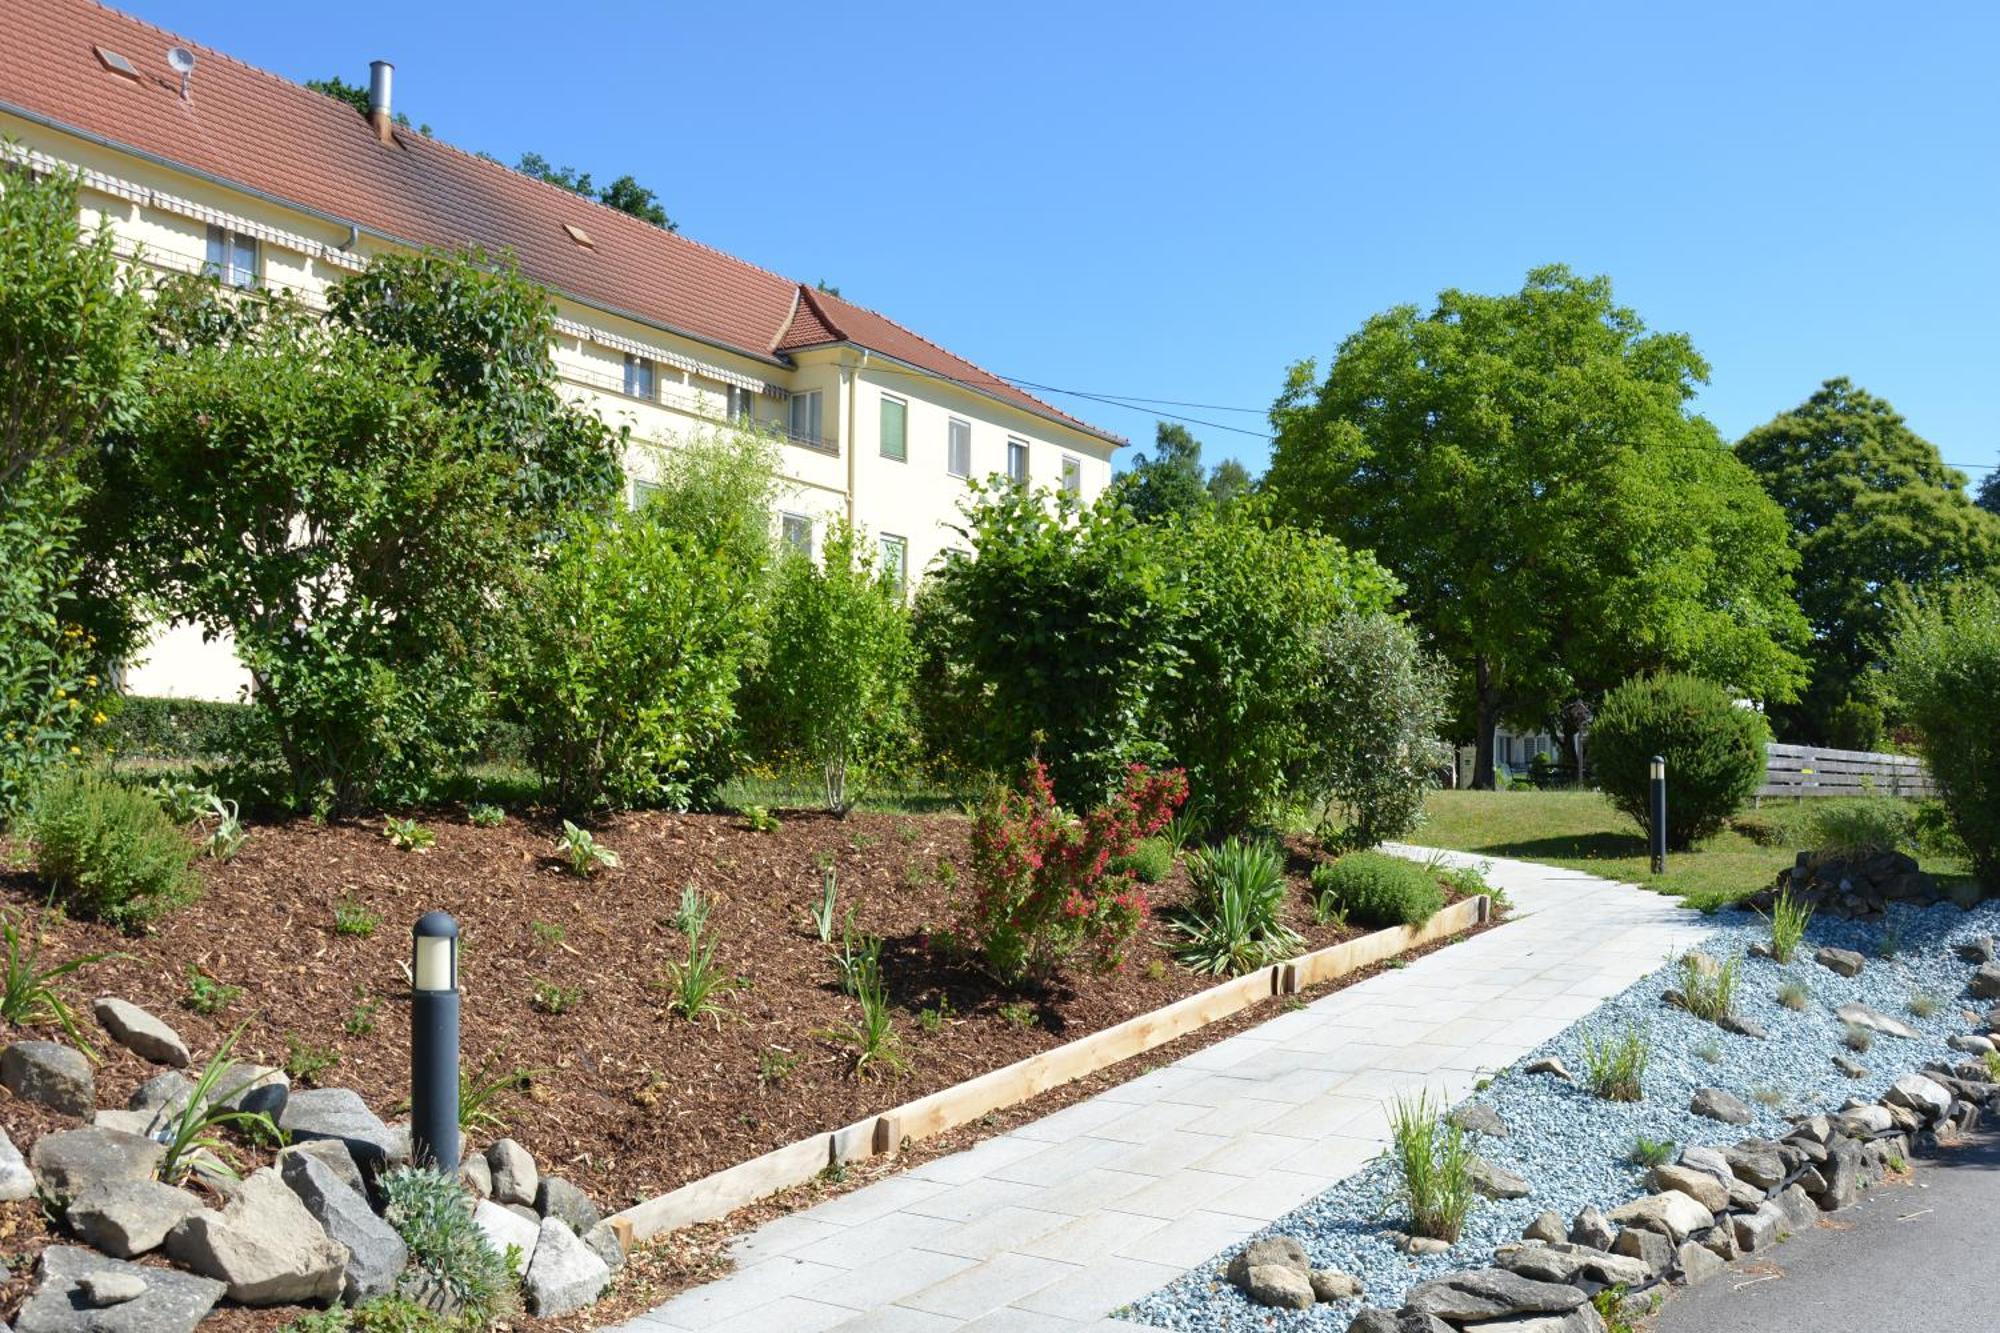
{"label": "rounded green shrub on the lawn behind the far bollard light", "polygon": [[1604,697],[1590,727],[1598,785],[1652,831],[1654,755],[1666,757],[1666,845],[1688,851],[1714,837],[1764,779],[1770,731],[1726,689],[1682,675],[1632,677]]}

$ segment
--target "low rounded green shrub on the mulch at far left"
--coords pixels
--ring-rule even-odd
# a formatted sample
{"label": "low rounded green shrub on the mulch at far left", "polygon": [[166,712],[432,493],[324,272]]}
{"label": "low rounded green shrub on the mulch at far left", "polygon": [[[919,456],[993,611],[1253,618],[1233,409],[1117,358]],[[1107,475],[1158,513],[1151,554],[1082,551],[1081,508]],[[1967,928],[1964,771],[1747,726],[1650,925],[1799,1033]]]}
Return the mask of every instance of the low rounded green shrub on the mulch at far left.
{"label": "low rounded green shrub on the mulch at far left", "polygon": [[94,773],[42,787],[28,817],[36,875],[72,911],[128,931],[192,901],[196,847],[142,791]]}

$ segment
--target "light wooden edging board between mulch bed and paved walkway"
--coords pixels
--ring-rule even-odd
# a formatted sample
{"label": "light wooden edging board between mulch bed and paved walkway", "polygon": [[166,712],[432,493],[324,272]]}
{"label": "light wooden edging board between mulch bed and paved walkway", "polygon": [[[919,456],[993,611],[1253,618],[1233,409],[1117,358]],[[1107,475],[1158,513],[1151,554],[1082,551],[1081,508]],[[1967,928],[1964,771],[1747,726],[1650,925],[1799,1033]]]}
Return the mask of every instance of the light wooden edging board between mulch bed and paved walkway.
{"label": "light wooden edging board between mulch bed and paved walkway", "polygon": [[1390,927],[1342,945],[1260,967],[1218,987],[1178,999],[1164,1009],[1126,1019],[1102,1033],[1078,1037],[1054,1051],[1030,1055],[966,1083],[940,1089],[892,1111],[870,1115],[832,1133],[788,1143],[734,1167],[690,1181],[614,1215],[612,1227],[630,1245],[664,1231],[714,1221],[780,1189],[804,1185],[832,1165],[898,1151],[906,1141],[930,1139],[970,1125],[988,1111],[1012,1107],[1118,1061],[1164,1047],[1176,1037],[1242,1013],[1274,995],[1294,995],[1398,953],[1448,939],[1492,919],[1486,895],[1452,903],[1416,927]]}

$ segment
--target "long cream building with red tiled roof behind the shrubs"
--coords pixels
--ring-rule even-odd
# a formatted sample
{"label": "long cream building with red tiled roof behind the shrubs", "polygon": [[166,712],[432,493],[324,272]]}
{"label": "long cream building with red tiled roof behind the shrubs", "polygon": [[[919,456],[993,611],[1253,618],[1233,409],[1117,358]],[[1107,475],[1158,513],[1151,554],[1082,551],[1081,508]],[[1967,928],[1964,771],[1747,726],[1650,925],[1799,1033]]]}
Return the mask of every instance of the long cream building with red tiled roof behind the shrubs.
{"label": "long cream building with red tiled roof behind the shrubs", "polygon": [[[634,498],[660,448],[752,422],[780,440],[786,542],[848,518],[914,580],[972,478],[1110,484],[1118,436],[874,310],[396,126],[392,100],[386,64],[364,118],[92,0],[0,4],[0,154],[80,172],[86,224],[126,256],[318,302],[382,252],[512,252],[556,300],[564,384],[632,428]],[[246,685],[192,626],[126,673],[138,695]]]}

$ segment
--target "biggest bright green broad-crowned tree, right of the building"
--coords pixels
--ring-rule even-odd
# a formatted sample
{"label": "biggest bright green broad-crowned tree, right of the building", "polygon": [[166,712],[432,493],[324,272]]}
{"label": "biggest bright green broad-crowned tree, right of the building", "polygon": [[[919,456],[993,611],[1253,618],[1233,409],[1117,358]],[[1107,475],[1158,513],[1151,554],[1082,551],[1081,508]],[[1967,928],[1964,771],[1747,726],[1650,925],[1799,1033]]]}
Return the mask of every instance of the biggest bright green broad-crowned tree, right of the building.
{"label": "biggest bright green broad-crowned tree, right of the building", "polygon": [[1690,410],[1708,364],[1608,278],[1538,268],[1446,290],[1292,368],[1264,486],[1282,514],[1374,550],[1452,664],[1474,781],[1502,721],[1542,723],[1634,671],[1752,699],[1802,683],[1784,516]]}

